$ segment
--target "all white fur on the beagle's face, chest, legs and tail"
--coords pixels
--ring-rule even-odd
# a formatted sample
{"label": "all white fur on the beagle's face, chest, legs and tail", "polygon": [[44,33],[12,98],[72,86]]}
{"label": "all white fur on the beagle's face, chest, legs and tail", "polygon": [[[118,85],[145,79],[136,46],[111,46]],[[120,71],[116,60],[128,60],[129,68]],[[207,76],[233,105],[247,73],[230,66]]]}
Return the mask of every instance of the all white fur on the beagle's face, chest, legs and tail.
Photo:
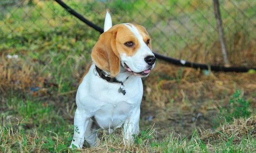
{"label": "all white fur on the beagle's face, chest, legs and tail", "polygon": [[[90,146],[96,146],[96,130],[99,128],[112,131],[123,126],[126,142],[133,141],[133,134],[139,133],[140,103],[143,96],[143,84],[139,76],[125,71],[124,62],[134,72],[142,72],[148,68],[145,57],[154,56],[151,49],[143,41],[138,29],[130,23],[124,25],[132,31],[140,43],[140,48],[133,56],[120,54],[120,72],[116,79],[124,82],[126,94],[118,92],[119,83],[110,83],[98,76],[95,63],[90,66],[76,94],[76,113],[74,117],[74,136],[70,147],[82,148],[84,140]],[[107,12],[104,31],[112,27],[111,16]],[[152,65],[154,68],[154,65]],[[108,71],[105,71],[109,74]],[[148,75],[146,75],[148,76]],[[146,77],[144,76],[144,77]],[[127,77],[129,77],[127,79]]]}

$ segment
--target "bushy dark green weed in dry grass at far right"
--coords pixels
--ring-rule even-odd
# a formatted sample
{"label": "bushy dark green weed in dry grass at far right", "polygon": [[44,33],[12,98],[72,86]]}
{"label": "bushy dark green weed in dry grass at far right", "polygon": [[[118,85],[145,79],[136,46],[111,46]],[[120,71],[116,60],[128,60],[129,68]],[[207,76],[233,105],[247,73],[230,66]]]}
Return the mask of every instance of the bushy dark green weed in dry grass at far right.
{"label": "bushy dark green weed in dry grass at far right", "polygon": [[227,122],[233,120],[233,118],[248,117],[251,115],[250,102],[244,98],[244,94],[241,90],[237,90],[232,96],[230,96],[230,102],[227,108],[221,108],[221,117],[224,117]]}

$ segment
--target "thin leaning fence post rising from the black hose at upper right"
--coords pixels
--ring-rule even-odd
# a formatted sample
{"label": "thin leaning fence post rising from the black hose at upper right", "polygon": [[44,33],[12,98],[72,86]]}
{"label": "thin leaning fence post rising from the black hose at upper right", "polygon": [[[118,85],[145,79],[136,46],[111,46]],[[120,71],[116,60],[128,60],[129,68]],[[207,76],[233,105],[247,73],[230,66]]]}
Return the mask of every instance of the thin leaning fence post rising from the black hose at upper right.
{"label": "thin leaning fence post rising from the black hose at upper right", "polygon": [[222,51],[222,55],[224,58],[224,63],[226,66],[229,66],[230,62],[227,58],[227,47],[225,44],[224,31],[222,28],[221,11],[220,11],[220,7],[219,7],[219,1],[213,0],[213,5],[214,5],[214,14],[215,14],[215,18],[216,18],[218,33],[219,33],[219,40],[221,42],[221,51]]}

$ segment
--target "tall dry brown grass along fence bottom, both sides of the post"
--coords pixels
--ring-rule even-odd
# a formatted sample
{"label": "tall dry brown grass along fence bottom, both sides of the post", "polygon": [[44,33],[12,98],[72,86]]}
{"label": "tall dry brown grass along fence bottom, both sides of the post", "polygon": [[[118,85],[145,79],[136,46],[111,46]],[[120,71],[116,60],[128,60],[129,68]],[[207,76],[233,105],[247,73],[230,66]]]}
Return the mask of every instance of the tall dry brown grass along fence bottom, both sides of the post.
{"label": "tall dry brown grass along fence bottom, both sides of the post", "polygon": [[[227,40],[228,58],[232,66],[255,67],[256,65],[256,39],[247,41],[247,35],[239,32]],[[221,54],[221,45],[218,40],[205,46],[203,43],[190,44],[179,51],[175,57],[192,62],[224,65]]]}

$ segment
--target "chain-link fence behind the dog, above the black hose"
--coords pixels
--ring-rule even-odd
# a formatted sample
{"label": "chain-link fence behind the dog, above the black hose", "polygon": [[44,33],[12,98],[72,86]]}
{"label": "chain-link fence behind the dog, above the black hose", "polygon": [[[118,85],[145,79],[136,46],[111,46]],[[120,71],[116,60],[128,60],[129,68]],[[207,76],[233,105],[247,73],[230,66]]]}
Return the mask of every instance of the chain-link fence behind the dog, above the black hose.
{"label": "chain-link fence behind the dog, above the black hose", "polygon": [[[212,0],[64,2],[101,27],[107,8],[111,12],[113,24],[134,22],[145,26],[152,37],[154,51],[160,54],[194,62],[223,64]],[[225,40],[232,65],[242,63],[252,66],[256,63],[255,8],[255,0],[220,0]],[[83,39],[84,31],[91,31],[89,34],[95,41],[99,37],[99,33],[70,15],[54,0],[0,1],[0,42],[8,37],[14,38],[14,34],[17,34],[16,39],[30,41],[23,35],[51,35],[68,30],[76,34],[75,39]]]}

